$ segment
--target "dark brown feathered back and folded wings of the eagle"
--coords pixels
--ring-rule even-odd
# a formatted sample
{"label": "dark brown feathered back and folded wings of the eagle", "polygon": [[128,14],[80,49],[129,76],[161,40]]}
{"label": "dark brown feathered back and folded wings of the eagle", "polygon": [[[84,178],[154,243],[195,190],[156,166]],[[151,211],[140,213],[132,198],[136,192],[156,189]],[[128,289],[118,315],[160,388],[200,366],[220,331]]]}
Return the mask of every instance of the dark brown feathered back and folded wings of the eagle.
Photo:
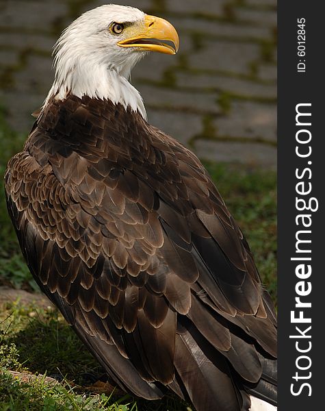
{"label": "dark brown feathered back and folded wings of the eagle", "polygon": [[68,101],[41,114],[6,173],[42,290],[133,393],[159,397],[155,382],[181,393],[174,376],[185,373],[181,358],[192,364],[193,338],[257,383],[259,351],[276,351],[272,305],[203,165],[124,108]]}

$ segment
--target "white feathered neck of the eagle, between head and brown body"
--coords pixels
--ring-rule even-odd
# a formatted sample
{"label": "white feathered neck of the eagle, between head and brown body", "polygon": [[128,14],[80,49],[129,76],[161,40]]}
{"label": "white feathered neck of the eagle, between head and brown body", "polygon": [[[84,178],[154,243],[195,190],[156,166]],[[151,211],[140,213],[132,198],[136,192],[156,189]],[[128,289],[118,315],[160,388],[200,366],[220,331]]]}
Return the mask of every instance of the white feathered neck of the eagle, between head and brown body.
{"label": "white feathered neck of the eagle, between head and brown body", "polygon": [[[146,119],[146,109],[142,97],[127,80],[129,73],[118,73],[114,68],[104,64],[88,64],[74,67],[56,67],[55,81],[44,102],[47,105],[53,97],[64,100],[68,95],[82,98],[110,100],[122,104],[126,109],[139,112]],[[44,107],[43,106],[43,107]]]}

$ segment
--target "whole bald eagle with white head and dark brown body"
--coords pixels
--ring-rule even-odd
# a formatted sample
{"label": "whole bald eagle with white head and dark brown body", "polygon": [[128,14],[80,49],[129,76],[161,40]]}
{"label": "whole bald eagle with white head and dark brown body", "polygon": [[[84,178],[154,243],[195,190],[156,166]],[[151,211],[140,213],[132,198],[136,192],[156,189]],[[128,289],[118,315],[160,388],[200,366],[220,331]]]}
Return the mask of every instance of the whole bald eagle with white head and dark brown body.
{"label": "whole bald eagle with white head and dark brown body", "polygon": [[276,316],[248,244],[198,158],[149,125],[128,79],[174,54],[162,18],[103,5],[54,49],[55,81],[5,174],[42,291],[107,375],[198,411],[276,405]]}

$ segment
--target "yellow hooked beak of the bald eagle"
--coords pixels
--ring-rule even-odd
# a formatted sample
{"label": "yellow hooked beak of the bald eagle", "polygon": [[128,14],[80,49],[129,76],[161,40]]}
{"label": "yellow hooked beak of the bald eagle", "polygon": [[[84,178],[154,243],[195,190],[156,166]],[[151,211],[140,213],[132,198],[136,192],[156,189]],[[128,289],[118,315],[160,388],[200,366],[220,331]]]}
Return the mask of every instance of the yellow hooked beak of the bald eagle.
{"label": "yellow hooked beak of the bald eagle", "polygon": [[138,47],[141,50],[176,54],[179,50],[179,35],[176,29],[164,18],[144,17],[144,29],[134,37],[118,42],[120,47]]}

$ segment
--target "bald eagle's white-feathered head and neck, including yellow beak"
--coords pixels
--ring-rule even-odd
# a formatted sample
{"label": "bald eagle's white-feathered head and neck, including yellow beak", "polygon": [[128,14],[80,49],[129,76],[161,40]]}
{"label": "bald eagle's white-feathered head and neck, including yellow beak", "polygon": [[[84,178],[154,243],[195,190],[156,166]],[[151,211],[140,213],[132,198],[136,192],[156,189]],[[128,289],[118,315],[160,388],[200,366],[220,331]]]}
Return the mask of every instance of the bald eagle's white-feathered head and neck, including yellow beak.
{"label": "bald eagle's white-feathered head and neck, including yellow beak", "polygon": [[122,5],[102,5],[82,14],[57,40],[53,55],[55,80],[45,104],[68,93],[88,95],[146,111],[129,83],[133,66],[148,51],[175,54],[179,37],[163,18]]}

